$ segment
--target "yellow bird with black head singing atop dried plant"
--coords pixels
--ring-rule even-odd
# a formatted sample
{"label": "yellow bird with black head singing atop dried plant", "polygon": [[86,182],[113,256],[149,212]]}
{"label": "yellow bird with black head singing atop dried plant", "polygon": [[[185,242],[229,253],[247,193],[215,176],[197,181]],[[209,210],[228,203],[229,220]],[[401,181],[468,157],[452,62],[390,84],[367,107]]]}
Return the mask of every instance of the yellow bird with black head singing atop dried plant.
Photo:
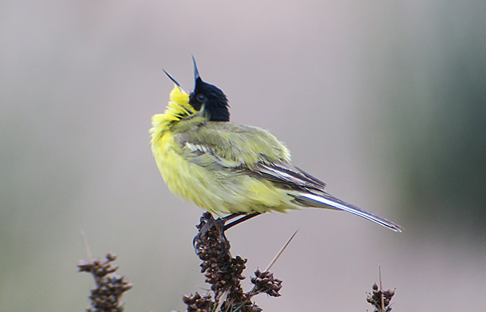
{"label": "yellow bird with black head singing atop dried plant", "polygon": [[228,229],[269,211],[303,207],[348,211],[394,232],[402,227],[326,191],[326,184],[294,166],[290,150],[270,132],[230,121],[228,98],[204,82],[194,56],[195,85],[174,83],[163,114],[152,116],[151,150],[169,189],[219,216]]}

